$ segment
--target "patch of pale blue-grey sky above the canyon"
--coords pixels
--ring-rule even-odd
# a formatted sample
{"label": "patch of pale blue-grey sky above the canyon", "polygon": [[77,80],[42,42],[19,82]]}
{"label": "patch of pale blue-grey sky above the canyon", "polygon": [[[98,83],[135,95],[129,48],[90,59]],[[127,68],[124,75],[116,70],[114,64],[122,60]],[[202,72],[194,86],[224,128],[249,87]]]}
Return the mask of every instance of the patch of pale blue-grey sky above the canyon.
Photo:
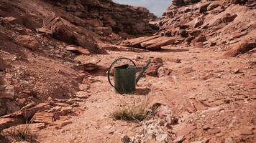
{"label": "patch of pale blue-grey sky above the canyon", "polygon": [[113,0],[118,4],[128,4],[132,6],[143,6],[154,13],[156,16],[162,16],[163,12],[166,11],[170,6],[171,0]]}

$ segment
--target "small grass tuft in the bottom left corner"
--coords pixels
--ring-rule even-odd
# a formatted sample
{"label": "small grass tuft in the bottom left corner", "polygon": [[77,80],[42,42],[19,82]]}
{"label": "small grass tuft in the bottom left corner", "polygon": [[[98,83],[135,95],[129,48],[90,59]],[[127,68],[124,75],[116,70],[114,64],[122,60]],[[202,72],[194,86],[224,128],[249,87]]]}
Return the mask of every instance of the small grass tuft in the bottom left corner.
{"label": "small grass tuft in the bottom left corner", "polygon": [[16,140],[16,142],[27,141],[27,142],[36,142],[37,134],[32,133],[29,129],[29,126],[24,128],[11,127],[6,130],[4,136],[11,137]]}

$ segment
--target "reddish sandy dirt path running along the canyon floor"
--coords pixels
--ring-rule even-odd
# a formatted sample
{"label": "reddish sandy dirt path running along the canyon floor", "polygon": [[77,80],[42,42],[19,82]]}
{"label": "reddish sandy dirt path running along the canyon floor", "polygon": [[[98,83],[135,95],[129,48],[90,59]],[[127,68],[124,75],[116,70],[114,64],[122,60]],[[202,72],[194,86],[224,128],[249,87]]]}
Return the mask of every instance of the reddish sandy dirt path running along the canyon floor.
{"label": "reddish sandy dirt path running along the canyon floor", "polygon": [[[133,137],[140,124],[114,121],[111,113],[146,96],[150,104],[160,102],[172,109],[179,119],[173,132],[176,137],[185,135],[185,142],[225,139],[250,142],[256,139],[255,135],[244,137],[242,134],[248,130],[255,132],[255,51],[232,59],[222,59],[222,54],[211,49],[180,46],[158,52],[109,51],[109,55],[92,56],[100,59],[99,65],[104,67],[121,56],[138,64],[160,57],[171,74],[143,77],[137,85],[142,92],[125,96],[114,92],[106,74],[93,77],[89,91],[84,92],[91,96],[84,102],[83,114],[73,117],[73,123],[62,129],[42,130],[40,142],[121,142],[124,135]],[[180,59],[181,63],[173,59]],[[239,72],[235,74],[237,69]],[[150,89],[148,94],[143,92],[145,88]]]}

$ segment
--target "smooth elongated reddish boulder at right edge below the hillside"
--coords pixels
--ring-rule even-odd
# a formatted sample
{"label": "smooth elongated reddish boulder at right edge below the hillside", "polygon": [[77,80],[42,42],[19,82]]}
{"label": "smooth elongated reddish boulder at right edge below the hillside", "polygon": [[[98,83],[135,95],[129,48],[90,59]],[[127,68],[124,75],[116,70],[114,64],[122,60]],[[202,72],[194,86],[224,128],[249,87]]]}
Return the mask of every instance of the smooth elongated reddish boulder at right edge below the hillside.
{"label": "smooth elongated reddish boulder at right edge below the hillside", "polygon": [[225,57],[234,57],[239,54],[244,54],[251,49],[255,49],[256,47],[256,39],[244,39],[237,43],[234,48],[227,51],[224,56]]}

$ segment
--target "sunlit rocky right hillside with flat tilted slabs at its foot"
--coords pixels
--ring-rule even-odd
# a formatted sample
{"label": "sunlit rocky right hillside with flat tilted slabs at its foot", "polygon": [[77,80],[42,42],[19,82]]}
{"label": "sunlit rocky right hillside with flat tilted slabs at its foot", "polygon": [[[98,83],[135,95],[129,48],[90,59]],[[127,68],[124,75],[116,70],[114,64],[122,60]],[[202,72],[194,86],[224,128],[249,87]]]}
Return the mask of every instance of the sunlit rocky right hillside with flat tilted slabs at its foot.
{"label": "sunlit rocky right hillside with flat tilted slabs at its foot", "polygon": [[251,0],[173,0],[157,22],[160,30],[154,36],[124,41],[122,45],[157,50],[186,44],[228,50],[243,39],[255,40],[255,8],[256,1]]}

